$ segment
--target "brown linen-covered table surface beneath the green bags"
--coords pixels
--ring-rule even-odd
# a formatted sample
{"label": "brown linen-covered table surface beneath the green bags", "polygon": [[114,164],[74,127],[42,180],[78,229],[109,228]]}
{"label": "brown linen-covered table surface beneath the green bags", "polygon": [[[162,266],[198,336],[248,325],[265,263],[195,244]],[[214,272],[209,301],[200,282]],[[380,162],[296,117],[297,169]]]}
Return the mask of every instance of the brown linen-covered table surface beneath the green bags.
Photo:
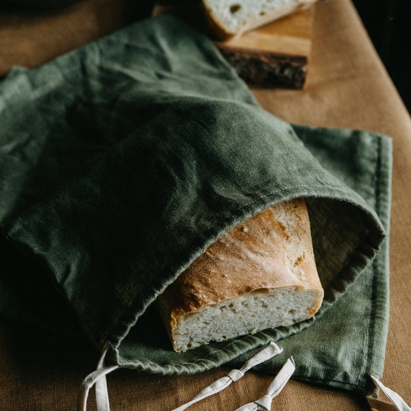
{"label": "brown linen-covered table surface beneath the green bags", "polygon": [[[132,1],[83,0],[60,11],[0,8],[0,75],[34,67],[132,21]],[[253,89],[263,108],[293,123],[368,129],[393,137],[390,227],[390,329],[382,381],[411,403],[411,119],[350,0],[317,3],[303,90]],[[78,340],[0,323],[0,410],[73,410],[98,353]],[[27,343],[29,342],[29,343]],[[160,377],[116,371],[108,377],[112,410],[171,410],[227,373]],[[235,410],[264,395],[272,376],[249,372],[190,410]],[[92,397],[92,396],[91,396]],[[95,410],[92,398],[89,410]],[[290,381],[275,410],[369,410],[362,397]]]}

